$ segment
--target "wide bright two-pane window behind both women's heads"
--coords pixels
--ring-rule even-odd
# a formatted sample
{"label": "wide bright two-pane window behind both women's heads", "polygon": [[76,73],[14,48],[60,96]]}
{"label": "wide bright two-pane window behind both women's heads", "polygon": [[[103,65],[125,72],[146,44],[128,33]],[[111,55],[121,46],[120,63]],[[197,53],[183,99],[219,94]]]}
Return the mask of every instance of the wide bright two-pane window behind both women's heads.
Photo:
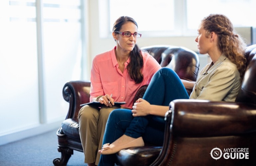
{"label": "wide bright two-pane window behind both women's heads", "polygon": [[[226,15],[234,27],[256,27],[255,5],[254,0],[99,0],[100,36],[110,34],[114,21],[123,15],[137,21],[144,37],[196,36],[200,21],[211,13]],[[109,29],[103,30],[106,25]]]}

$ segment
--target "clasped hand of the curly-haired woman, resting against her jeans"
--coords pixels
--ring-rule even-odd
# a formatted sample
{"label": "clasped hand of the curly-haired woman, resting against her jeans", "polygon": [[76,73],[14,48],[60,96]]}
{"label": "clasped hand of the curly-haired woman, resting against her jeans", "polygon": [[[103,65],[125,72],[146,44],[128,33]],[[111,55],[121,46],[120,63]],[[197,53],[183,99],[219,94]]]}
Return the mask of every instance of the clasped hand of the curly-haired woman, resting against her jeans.
{"label": "clasped hand of the curly-haired woman, resting against her jeans", "polygon": [[146,116],[150,114],[150,103],[146,100],[139,98],[132,106],[132,116]]}

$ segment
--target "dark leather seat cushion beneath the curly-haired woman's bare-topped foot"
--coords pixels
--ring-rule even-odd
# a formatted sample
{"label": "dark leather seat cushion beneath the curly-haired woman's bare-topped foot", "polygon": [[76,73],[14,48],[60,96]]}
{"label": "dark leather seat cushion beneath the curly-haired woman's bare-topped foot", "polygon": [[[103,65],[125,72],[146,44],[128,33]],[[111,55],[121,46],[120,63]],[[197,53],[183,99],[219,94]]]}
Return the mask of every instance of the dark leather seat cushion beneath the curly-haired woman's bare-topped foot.
{"label": "dark leather seat cushion beneath the curly-haired woman's bare-topped foot", "polygon": [[159,156],[162,146],[130,147],[116,153],[121,166],[150,165]]}

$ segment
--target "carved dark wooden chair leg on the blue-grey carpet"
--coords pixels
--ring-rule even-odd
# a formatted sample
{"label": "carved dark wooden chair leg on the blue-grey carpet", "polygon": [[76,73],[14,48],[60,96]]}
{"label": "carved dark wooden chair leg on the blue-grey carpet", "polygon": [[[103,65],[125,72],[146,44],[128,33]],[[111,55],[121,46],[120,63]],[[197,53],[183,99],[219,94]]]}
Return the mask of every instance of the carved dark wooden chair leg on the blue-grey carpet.
{"label": "carved dark wooden chair leg on the blue-grey carpet", "polygon": [[53,164],[54,165],[66,165],[69,158],[73,154],[73,149],[58,148],[58,151],[61,152],[61,158],[54,159]]}

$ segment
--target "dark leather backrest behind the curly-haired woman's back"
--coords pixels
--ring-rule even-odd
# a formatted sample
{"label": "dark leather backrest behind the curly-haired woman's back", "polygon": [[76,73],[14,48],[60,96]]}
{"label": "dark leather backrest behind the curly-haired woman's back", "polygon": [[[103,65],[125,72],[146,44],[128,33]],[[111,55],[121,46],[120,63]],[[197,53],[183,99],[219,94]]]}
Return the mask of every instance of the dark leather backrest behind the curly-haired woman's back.
{"label": "dark leather backrest behind the curly-haired woman's back", "polygon": [[256,44],[245,49],[245,57],[247,68],[236,102],[256,104]]}

